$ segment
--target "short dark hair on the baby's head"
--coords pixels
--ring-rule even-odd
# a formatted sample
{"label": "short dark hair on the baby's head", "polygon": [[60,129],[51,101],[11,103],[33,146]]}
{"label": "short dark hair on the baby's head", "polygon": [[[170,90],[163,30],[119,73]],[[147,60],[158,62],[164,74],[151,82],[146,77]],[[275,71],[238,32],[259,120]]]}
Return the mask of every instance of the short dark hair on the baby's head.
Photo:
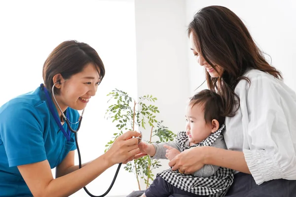
{"label": "short dark hair on the baby's head", "polygon": [[203,106],[204,119],[206,123],[211,123],[216,119],[219,122],[219,128],[225,122],[224,105],[225,102],[220,95],[211,90],[202,90],[190,98],[192,107],[196,104]]}

